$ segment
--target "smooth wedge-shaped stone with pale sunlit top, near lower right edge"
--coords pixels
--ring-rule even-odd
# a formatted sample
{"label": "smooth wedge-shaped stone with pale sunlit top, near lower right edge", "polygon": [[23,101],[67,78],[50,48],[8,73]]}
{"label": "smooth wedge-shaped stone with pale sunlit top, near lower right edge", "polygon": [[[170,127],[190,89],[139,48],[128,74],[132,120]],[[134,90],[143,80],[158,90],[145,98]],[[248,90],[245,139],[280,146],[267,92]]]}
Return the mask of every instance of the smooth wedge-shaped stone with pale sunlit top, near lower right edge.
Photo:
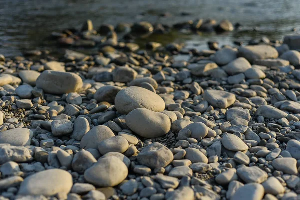
{"label": "smooth wedge-shaped stone with pale sunlit top, near lower right edge", "polygon": [[296,175],[298,174],[297,169],[297,160],[291,157],[283,157],[274,159],[272,162],[272,166],[283,173]]}

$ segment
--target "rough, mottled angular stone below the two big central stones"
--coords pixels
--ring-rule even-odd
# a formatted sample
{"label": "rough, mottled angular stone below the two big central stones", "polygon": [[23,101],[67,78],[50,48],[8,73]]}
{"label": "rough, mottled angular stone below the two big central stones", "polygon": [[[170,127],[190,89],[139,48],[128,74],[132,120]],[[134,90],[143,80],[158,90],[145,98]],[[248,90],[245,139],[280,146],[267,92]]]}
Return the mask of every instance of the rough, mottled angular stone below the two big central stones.
{"label": "rough, mottled angular stone below the two big central stones", "polygon": [[173,159],[172,151],[158,142],[148,145],[137,155],[137,161],[150,168],[166,167]]}

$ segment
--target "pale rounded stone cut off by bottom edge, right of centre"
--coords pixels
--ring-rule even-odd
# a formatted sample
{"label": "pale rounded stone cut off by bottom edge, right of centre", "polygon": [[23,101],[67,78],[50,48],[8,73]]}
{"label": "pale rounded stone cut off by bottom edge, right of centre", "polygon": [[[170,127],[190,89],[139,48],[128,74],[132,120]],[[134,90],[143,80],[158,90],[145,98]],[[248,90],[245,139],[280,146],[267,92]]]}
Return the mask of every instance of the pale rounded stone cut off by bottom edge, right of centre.
{"label": "pale rounded stone cut off by bottom edge, right of centre", "polygon": [[264,188],[258,183],[249,183],[238,188],[230,200],[261,200],[264,196]]}

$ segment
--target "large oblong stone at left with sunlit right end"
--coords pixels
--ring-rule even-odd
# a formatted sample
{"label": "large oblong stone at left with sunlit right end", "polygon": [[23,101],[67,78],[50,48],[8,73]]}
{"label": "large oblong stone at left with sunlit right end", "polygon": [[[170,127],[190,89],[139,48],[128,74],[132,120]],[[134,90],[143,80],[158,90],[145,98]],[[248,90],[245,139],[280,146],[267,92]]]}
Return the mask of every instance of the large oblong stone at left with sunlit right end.
{"label": "large oblong stone at left with sunlit right end", "polygon": [[37,78],[36,86],[46,93],[64,94],[78,91],[83,82],[81,77],[74,73],[46,70]]}

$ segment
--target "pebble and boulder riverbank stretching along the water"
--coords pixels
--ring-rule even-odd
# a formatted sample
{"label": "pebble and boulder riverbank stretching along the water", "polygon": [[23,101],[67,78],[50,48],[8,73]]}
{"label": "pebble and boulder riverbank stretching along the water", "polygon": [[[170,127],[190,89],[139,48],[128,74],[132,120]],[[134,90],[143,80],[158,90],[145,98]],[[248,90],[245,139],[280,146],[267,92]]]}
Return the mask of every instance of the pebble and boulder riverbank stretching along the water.
{"label": "pebble and boulder riverbank stretching along the water", "polygon": [[[209,21],[180,29],[234,29]],[[198,51],[122,27],[52,33],[72,48],[58,58],[0,55],[1,200],[299,198],[299,36]]]}

